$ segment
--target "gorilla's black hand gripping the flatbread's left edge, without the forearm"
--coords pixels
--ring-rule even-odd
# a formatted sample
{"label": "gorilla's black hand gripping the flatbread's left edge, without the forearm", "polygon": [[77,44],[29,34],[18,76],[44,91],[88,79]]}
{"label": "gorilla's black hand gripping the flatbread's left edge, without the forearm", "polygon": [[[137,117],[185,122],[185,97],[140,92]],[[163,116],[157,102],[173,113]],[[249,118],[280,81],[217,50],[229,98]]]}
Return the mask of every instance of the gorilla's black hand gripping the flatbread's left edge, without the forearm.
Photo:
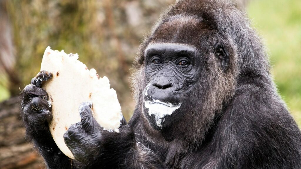
{"label": "gorilla's black hand gripping the flatbread's left edge, without the forearm", "polygon": [[[23,91],[21,115],[26,127],[26,135],[35,142],[48,141],[52,138],[48,129],[48,122],[52,119],[51,103],[47,101],[47,92],[40,88],[42,82],[50,78],[52,78],[50,72],[41,71]],[[44,143],[43,145],[48,146]]]}

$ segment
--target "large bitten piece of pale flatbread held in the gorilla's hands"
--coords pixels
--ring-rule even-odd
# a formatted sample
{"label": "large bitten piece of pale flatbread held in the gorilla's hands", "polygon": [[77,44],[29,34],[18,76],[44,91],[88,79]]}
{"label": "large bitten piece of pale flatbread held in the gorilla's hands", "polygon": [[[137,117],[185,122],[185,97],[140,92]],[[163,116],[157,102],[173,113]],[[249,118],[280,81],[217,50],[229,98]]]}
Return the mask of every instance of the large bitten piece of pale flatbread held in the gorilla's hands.
{"label": "large bitten piece of pale flatbread held in the gorilla's hands", "polygon": [[42,85],[52,104],[53,119],[49,123],[51,135],[61,149],[70,158],[71,151],[64,142],[63,135],[70,127],[80,121],[79,105],[92,101],[93,116],[108,131],[119,132],[121,107],[116,91],[110,88],[109,79],[98,78],[95,69],[80,62],[77,54],[66,54],[64,50],[45,50],[41,71],[51,72],[53,77]]}

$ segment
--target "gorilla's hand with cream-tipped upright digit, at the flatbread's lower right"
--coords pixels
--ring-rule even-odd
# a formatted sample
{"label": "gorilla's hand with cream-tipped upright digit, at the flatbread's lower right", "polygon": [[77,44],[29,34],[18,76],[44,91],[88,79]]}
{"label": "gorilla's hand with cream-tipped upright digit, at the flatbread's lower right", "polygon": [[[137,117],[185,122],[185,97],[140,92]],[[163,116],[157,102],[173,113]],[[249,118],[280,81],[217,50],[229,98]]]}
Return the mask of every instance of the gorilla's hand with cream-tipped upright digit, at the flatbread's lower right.
{"label": "gorilla's hand with cream-tipped upright digit, at the flatbread's lower right", "polygon": [[124,119],[119,133],[104,130],[92,116],[91,108],[91,102],[79,106],[81,121],[68,128],[65,143],[84,168],[119,168],[135,147],[134,132]]}

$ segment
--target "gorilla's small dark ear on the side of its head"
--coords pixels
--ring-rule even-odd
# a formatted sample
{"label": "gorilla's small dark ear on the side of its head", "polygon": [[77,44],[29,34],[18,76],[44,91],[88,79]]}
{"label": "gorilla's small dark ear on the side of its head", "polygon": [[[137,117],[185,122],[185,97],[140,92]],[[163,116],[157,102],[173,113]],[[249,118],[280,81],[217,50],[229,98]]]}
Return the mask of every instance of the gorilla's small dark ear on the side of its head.
{"label": "gorilla's small dark ear on the side of its head", "polygon": [[224,72],[226,72],[226,70],[228,68],[228,63],[229,63],[229,53],[228,53],[228,51],[225,50],[224,45],[222,44],[222,42],[217,42],[214,45],[214,49],[215,49],[215,56],[220,61],[221,66],[222,66],[222,70]]}

